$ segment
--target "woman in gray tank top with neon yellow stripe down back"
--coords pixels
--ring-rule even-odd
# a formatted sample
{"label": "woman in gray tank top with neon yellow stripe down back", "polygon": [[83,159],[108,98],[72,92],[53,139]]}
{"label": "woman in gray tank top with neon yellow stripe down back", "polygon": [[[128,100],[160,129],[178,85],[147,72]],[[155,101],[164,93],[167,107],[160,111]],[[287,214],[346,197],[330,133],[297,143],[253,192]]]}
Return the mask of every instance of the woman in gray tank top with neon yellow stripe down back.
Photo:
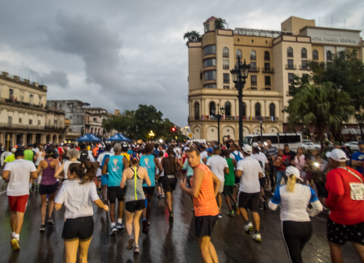
{"label": "woman in gray tank top with neon yellow stripe down back", "polygon": [[[125,226],[129,234],[129,241],[126,249],[131,250],[133,248],[134,253],[137,253],[139,252],[139,219],[145,208],[143,181],[145,181],[148,186],[151,185],[151,181],[147,170],[143,167],[139,167],[138,165],[138,154],[136,152],[133,153],[130,159],[131,166],[124,170],[120,187],[124,188],[125,183],[127,185],[125,200]],[[132,235],[132,223],[134,223],[134,237]]]}

